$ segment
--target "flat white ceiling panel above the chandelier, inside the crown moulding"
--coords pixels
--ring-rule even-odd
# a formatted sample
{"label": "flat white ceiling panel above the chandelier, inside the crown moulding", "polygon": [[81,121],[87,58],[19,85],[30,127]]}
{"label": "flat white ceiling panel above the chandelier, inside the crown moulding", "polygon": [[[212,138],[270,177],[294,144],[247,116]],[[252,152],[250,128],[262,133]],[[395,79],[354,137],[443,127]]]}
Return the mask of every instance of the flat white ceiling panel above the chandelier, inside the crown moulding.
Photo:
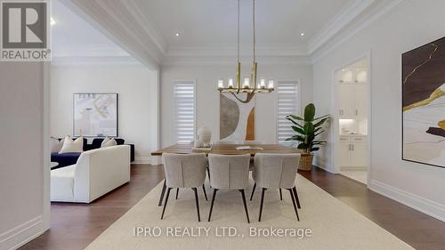
{"label": "flat white ceiling panel above the chandelier, inside the crown moulding", "polygon": [[[237,0],[135,0],[166,47],[237,45]],[[252,0],[240,1],[241,44],[253,36]],[[350,0],[256,0],[258,46],[306,47]],[[301,33],[304,36],[300,36]],[[180,33],[181,36],[175,36]]]}

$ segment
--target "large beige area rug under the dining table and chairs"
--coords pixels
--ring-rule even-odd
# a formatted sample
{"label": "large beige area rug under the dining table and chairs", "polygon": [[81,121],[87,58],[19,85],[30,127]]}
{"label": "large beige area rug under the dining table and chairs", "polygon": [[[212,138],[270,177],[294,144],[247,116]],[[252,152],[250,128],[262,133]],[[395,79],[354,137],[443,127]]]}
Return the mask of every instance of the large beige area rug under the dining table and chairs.
{"label": "large beige area rug under the dining table and chairs", "polygon": [[[251,219],[248,224],[237,190],[218,191],[212,221],[207,222],[213,194],[208,186],[209,201],[205,200],[202,189],[198,190],[201,222],[197,219],[192,190],[180,190],[178,200],[172,190],[161,221],[160,183],[86,249],[413,249],[301,175],[297,176],[296,187],[302,202],[300,222],[296,221],[287,190],[283,190],[283,201],[279,200],[278,190],[265,193],[263,218],[258,222],[261,192],[257,189],[253,201],[248,200],[251,190],[247,190]],[[135,230],[142,228],[136,227],[142,227],[145,233],[138,235]],[[260,229],[263,234],[258,236]]]}

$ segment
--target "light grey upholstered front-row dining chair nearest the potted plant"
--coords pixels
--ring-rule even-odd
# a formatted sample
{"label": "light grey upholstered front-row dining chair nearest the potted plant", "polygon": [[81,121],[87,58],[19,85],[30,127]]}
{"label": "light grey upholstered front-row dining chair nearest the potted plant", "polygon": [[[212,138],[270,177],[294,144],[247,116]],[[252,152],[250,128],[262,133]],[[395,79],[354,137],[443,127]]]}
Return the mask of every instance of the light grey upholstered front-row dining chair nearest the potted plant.
{"label": "light grey upholstered front-row dining chair nearest the potted plant", "polygon": [[[258,222],[261,222],[261,215],[263,214],[264,191],[267,189],[286,189],[289,191],[292,204],[296,214],[296,219],[300,221],[298,211],[295,206],[295,200],[300,204],[295,188],[295,177],[300,162],[300,154],[263,154],[257,153],[255,155],[255,169],[253,173],[255,186],[252,190],[252,196],[255,192],[255,187],[262,189],[260,214]],[[252,198],[251,196],[251,198]]]}

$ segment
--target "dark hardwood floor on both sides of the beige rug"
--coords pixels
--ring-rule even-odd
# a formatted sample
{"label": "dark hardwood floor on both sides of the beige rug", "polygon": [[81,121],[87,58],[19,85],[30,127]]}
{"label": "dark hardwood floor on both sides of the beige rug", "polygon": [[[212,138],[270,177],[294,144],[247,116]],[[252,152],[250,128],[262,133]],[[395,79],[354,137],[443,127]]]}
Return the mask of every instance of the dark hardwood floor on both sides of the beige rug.
{"label": "dark hardwood floor on both sides of the beige rug", "polygon": [[[378,195],[343,175],[320,168],[300,173],[410,246],[422,250],[445,249],[445,222]],[[90,205],[53,203],[51,230],[20,249],[84,249],[163,178],[161,165],[133,165],[130,183]]]}

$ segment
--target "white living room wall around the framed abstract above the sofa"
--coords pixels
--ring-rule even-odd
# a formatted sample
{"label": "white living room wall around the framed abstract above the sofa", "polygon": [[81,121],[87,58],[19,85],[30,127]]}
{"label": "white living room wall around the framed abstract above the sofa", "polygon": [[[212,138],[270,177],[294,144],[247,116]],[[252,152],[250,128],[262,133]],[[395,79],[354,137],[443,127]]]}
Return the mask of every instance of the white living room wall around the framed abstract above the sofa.
{"label": "white living room wall around the framed abstract above the sofa", "polygon": [[73,93],[118,93],[119,137],[134,143],[135,162],[150,163],[158,138],[158,73],[141,64],[53,65],[51,135],[73,133]]}

